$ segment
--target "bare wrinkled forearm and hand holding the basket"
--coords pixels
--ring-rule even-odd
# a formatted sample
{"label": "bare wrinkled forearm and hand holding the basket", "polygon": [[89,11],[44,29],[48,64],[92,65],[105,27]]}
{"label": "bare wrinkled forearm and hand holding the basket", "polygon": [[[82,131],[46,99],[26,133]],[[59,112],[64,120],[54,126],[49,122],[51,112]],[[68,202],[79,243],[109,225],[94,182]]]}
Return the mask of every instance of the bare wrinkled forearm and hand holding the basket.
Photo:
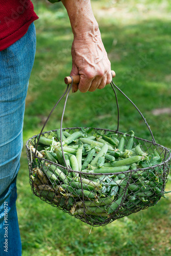
{"label": "bare wrinkled forearm and hand holding the basket", "polygon": [[80,75],[73,92],[93,92],[112,80],[111,65],[104,49],[90,0],[61,0],[67,9],[74,40],[71,75]]}

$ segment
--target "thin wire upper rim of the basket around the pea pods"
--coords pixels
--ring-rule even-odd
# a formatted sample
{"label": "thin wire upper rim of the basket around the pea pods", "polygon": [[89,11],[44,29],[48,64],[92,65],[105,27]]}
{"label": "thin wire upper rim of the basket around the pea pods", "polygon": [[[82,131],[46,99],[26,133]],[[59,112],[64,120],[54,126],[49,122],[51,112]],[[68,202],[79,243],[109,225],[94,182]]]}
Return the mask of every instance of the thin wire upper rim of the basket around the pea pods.
{"label": "thin wire upper rim of the basket around the pea pods", "polygon": [[[119,132],[119,131],[114,131],[114,130],[110,130],[110,129],[102,129],[102,128],[97,128],[97,127],[84,127],[84,128],[93,128],[94,130],[110,131],[110,132],[114,132],[114,133],[116,133],[116,134],[117,134],[117,133],[118,133],[118,134],[125,134],[125,133],[122,133],[122,132]],[[74,129],[81,129],[81,127],[65,127],[65,128],[62,128],[62,130],[74,130]],[[44,132],[44,133],[42,133],[42,134],[46,134],[46,133],[50,133],[50,132],[55,132],[55,131],[57,131],[57,130],[59,130],[59,129],[47,131],[47,132]],[[39,135],[39,134],[34,135],[34,136],[32,136],[31,138],[29,138],[29,139],[27,140],[27,142],[26,142],[26,150],[30,151],[30,147],[28,146],[28,143],[30,142],[31,139],[34,139],[34,138],[37,137],[38,135]],[[131,136],[131,135],[130,135],[130,134],[126,134],[126,136]],[[167,148],[167,147],[165,147],[165,146],[163,146],[163,145],[160,145],[160,144],[155,143],[155,142],[153,142],[153,141],[146,140],[146,139],[142,139],[142,138],[139,138],[139,137],[136,137],[136,136],[134,136],[134,138],[135,138],[135,139],[138,139],[138,140],[145,141],[145,142],[149,142],[149,143],[151,143],[151,144],[153,144],[153,145],[155,145],[155,146],[159,146],[159,147],[163,148],[163,150],[165,150],[166,152],[169,153],[169,148]],[[48,159],[41,158],[41,157],[38,157],[38,156],[36,156],[36,158],[38,158],[38,159],[40,159],[40,160],[45,160],[46,162],[49,162],[49,163],[53,163],[54,165],[59,166],[59,167],[62,167],[63,169],[67,169],[67,167],[62,166],[62,165],[60,165],[60,164],[58,164],[58,163],[54,163],[54,162],[52,162],[52,161],[50,161],[50,160],[48,160]],[[153,165],[153,166],[148,166],[148,167],[145,167],[145,168],[137,168],[137,169],[135,169],[135,170],[133,170],[133,169],[132,169],[132,170],[126,170],[126,171],[124,171],[124,172],[105,173],[105,174],[103,173],[103,174],[102,174],[102,173],[77,172],[77,171],[75,171],[75,170],[73,170],[73,169],[71,169],[71,168],[69,168],[69,170],[70,170],[71,172],[73,172],[73,173],[79,173],[79,174],[84,174],[84,175],[94,175],[94,176],[96,176],[96,175],[115,175],[115,174],[131,173],[131,172],[136,172],[136,171],[139,171],[139,170],[146,170],[146,169],[150,169],[150,168],[155,168],[155,167],[157,167],[157,166],[161,166],[161,165],[163,165],[163,164],[168,163],[170,160],[171,160],[171,152],[170,152],[169,156],[167,157],[167,159],[166,159],[165,161],[163,161],[162,163],[160,163],[160,164],[156,164],[156,165]]]}

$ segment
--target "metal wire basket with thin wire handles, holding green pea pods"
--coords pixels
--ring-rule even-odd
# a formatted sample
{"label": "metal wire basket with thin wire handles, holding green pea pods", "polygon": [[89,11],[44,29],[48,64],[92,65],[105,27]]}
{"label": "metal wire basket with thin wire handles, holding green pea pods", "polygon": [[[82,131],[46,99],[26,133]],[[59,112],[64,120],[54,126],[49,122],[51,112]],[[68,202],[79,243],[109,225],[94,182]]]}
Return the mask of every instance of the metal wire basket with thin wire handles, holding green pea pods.
{"label": "metal wire basket with thin wire handles, holding green pea pods", "polygon": [[[67,165],[65,154],[63,152],[61,131],[67,131],[72,134],[73,132],[81,131],[82,129],[81,127],[67,127],[62,129],[63,115],[65,113],[68,95],[73,84],[73,78],[71,77],[71,79],[71,85],[68,85],[65,93],[59,99],[60,101],[63,96],[67,94],[60,124],[61,151],[65,166],[47,160],[39,155],[37,151],[40,136],[48,138],[51,135],[51,132],[55,133],[57,131],[53,130],[42,133],[50,115],[59,103],[58,101],[42,127],[39,136],[33,136],[26,143],[32,193],[48,204],[51,204],[64,212],[68,212],[69,215],[72,215],[91,226],[103,226],[116,219],[130,215],[133,212],[146,209],[149,206],[154,206],[160,198],[164,196],[171,154],[168,148],[155,142],[153,133],[142,113],[113,83],[113,81],[111,82],[111,87],[115,93],[118,110],[117,129],[113,131],[93,128],[91,131],[96,134],[101,134],[103,132],[106,136],[115,134],[117,139],[120,139],[123,136],[123,133],[118,131],[119,105],[115,91],[116,88],[138,110],[153,138],[152,141],[149,141],[134,136],[133,145],[136,146],[140,143],[141,150],[143,150],[144,154],[151,154],[155,151],[162,161],[160,163],[156,162],[153,166],[145,166],[143,168],[139,168],[138,166],[137,168],[129,168],[129,170],[121,170],[115,173],[94,173],[87,170],[76,172]],[[124,136],[126,144],[131,135],[124,134]],[[53,179],[53,174],[56,174],[58,178]]]}

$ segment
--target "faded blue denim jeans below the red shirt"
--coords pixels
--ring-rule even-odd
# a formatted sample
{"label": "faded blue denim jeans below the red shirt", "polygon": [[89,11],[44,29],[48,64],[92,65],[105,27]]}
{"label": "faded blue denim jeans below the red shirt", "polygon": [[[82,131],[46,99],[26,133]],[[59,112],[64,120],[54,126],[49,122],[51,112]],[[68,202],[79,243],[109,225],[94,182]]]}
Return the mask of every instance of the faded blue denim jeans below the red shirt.
{"label": "faded blue denim jeans below the red shirt", "polygon": [[22,255],[16,177],[23,147],[25,99],[36,49],[35,27],[0,52],[0,254]]}

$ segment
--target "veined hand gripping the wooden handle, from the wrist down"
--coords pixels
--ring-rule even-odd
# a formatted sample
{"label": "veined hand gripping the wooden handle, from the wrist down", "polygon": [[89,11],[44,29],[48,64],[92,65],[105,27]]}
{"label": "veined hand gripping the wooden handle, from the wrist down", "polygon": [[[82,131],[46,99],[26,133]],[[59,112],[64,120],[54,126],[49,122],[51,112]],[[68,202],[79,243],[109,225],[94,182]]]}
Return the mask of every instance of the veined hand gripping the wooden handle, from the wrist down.
{"label": "veined hand gripping the wooden handle, from the wrist down", "polygon": [[112,81],[111,63],[104,49],[100,31],[86,38],[74,37],[72,45],[72,71],[70,75],[80,75],[79,84],[73,84],[73,92],[94,92]]}

